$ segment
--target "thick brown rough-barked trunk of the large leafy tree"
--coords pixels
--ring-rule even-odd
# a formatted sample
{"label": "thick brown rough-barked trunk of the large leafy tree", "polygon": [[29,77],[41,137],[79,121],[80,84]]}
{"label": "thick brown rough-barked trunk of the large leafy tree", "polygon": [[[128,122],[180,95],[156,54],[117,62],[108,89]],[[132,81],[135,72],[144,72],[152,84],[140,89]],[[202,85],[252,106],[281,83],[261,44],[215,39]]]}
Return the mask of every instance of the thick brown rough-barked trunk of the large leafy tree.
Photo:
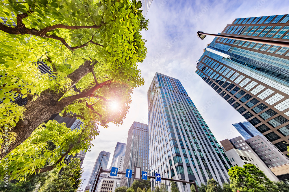
{"label": "thick brown rough-barked trunk of the large leafy tree", "polygon": [[[73,71],[67,76],[70,78],[71,87],[73,87],[82,77],[91,72],[91,62],[85,61],[78,69]],[[75,98],[66,98],[66,102],[59,101],[67,90],[62,90],[59,93],[49,93],[49,89],[43,91],[35,101],[29,101],[25,105],[25,111],[23,120],[18,121],[16,126],[11,129],[11,132],[17,134],[15,142],[12,142],[8,146],[8,152],[10,153],[18,145],[23,143],[32,132],[44,121],[47,121],[51,115],[60,113],[66,106],[70,105]],[[7,154],[7,153],[6,153]],[[2,159],[5,153],[0,154]]]}

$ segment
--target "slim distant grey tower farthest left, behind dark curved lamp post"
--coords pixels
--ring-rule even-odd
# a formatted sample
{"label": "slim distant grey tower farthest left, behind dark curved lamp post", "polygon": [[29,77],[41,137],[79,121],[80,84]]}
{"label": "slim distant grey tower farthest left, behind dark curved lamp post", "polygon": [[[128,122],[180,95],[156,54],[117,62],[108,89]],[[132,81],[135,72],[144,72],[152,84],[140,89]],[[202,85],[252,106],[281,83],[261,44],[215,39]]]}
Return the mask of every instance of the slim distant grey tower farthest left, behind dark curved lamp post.
{"label": "slim distant grey tower farthest left, behind dark curved lamp post", "polygon": [[99,172],[99,168],[102,167],[103,169],[106,169],[108,166],[108,160],[110,157],[110,153],[106,152],[106,151],[101,151],[95,161],[94,167],[92,169],[89,181],[88,181],[88,185],[86,186],[87,188],[89,188],[89,192],[93,190],[94,186],[96,185],[96,189],[99,185],[99,183],[101,182],[101,180],[98,181],[97,184],[95,184],[95,180],[96,177],[98,175]]}

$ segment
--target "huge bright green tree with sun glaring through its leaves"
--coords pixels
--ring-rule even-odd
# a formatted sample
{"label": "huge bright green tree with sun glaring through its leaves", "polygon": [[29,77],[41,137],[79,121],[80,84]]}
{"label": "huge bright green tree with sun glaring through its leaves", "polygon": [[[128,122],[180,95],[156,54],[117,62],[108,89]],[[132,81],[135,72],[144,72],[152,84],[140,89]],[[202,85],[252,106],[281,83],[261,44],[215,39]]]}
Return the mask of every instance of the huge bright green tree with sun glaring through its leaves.
{"label": "huge bright green tree with sun glaring through its leaves", "polygon": [[[133,89],[143,84],[136,63],[146,56],[140,31],[148,21],[140,7],[135,0],[2,1],[0,158],[13,155],[5,156],[8,170],[1,161],[1,176],[8,171],[10,179],[22,181],[60,169],[67,154],[90,149],[97,126],[123,123]],[[37,61],[51,66],[52,75],[40,73]],[[11,102],[17,96],[27,97],[27,104]],[[43,123],[55,113],[84,125],[70,131],[55,121]],[[8,141],[5,128],[11,129]]]}

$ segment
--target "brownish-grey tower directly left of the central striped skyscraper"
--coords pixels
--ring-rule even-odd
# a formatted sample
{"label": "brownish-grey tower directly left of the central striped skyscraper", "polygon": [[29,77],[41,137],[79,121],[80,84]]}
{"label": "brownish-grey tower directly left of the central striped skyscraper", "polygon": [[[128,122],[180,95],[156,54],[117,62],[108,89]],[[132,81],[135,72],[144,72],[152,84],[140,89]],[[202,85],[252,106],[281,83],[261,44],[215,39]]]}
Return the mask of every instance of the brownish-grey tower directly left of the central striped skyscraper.
{"label": "brownish-grey tower directly left of the central striped skyscraper", "polygon": [[[132,169],[134,166],[141,167],[142,171],[149,168],[149,127],[147,124],[134,122],[128,131],[127,146],[125,149],[125,161],[123,170]],[[121,187],[131,187],[133,178],[122,176]]]}

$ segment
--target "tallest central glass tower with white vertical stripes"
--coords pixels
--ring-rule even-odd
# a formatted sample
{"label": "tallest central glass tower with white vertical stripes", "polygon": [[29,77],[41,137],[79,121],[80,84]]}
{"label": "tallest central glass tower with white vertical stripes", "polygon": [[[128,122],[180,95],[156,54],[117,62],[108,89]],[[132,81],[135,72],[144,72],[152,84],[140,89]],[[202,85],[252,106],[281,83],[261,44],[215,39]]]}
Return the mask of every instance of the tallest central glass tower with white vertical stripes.
{"label": "tallest central glass tower with white vertical stripes", "polygon": [[228,181],[229,159],[178,79],[155,74],[148,90],[148,115],[151,175],[198,185],[212,177]]}

